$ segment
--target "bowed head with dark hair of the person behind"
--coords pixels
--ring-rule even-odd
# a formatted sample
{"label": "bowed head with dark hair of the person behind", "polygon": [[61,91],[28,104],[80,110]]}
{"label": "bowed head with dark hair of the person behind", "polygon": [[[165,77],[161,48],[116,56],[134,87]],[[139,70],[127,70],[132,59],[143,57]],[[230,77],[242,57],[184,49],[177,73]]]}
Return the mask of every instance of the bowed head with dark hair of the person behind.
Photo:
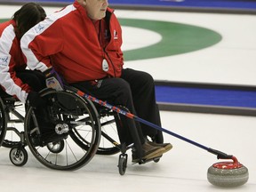
{"label": "bowed head with dark hair of the person behind", "polygon": [[12,20],[16,21],[18,37],[21,38],[28,29],[34,27],[38,22],[44,20],[46,13],[43,7],[39,4],[28,3],[24,4],[20,10],[15,12]]}

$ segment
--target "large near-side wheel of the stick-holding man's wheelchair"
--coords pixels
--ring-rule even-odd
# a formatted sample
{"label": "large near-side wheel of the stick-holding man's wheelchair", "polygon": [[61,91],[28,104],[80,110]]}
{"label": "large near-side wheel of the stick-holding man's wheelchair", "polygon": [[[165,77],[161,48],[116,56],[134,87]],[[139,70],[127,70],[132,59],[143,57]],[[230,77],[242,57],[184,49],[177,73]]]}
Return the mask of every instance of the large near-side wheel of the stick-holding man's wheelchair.
{"label": "large near-side wheel of the stick-holding man's wheelchair", "polygon": [[[89,163],[100,142],[100,120],[92,102],[74,92],[51,89],[41,96],[47,101],[45,108],[29,107],[25,116],[25,138],[32,154],[55,170],[76,170]],[[49,149],[57,143],[58,153]]]}

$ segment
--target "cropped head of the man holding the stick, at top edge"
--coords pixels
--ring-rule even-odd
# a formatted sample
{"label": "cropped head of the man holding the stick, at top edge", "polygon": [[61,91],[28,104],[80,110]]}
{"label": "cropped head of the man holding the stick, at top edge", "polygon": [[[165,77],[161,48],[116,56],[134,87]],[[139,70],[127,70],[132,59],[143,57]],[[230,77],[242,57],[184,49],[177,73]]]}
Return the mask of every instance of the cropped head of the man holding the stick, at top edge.
{"label": "cropped head of the man holding the stick, at top edge", "polygon": [[92,20],[101,20],[106,16],[108,0],[76,0],[84,6],[88,17]]}

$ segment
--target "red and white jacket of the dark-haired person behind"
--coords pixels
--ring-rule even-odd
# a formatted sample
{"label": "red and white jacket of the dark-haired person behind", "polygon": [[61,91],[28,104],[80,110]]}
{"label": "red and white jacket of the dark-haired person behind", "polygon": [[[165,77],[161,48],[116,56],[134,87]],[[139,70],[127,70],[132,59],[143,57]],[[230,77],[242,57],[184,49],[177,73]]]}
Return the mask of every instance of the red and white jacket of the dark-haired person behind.
{"label": "red and white jacket of the dark-haired person behind", "polygon": [[25,103],[31,89],[16,76],[16,71],[25,70],[27,64],[22,56],[15,28],[14,20],[0,24],[0,84],[5,92]]}

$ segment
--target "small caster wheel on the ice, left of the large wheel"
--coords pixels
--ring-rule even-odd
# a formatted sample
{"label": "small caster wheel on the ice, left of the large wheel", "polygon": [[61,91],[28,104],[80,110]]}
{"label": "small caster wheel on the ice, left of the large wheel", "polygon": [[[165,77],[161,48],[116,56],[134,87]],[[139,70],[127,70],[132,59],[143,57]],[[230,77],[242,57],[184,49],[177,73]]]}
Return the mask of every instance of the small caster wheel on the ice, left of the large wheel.
{"label": "small caster wheel on the ice, left of the large wheel", "polygon": [[23,166],[28,162],[28,152],[25,148],[12,148],[9,153],[12,164]]}

